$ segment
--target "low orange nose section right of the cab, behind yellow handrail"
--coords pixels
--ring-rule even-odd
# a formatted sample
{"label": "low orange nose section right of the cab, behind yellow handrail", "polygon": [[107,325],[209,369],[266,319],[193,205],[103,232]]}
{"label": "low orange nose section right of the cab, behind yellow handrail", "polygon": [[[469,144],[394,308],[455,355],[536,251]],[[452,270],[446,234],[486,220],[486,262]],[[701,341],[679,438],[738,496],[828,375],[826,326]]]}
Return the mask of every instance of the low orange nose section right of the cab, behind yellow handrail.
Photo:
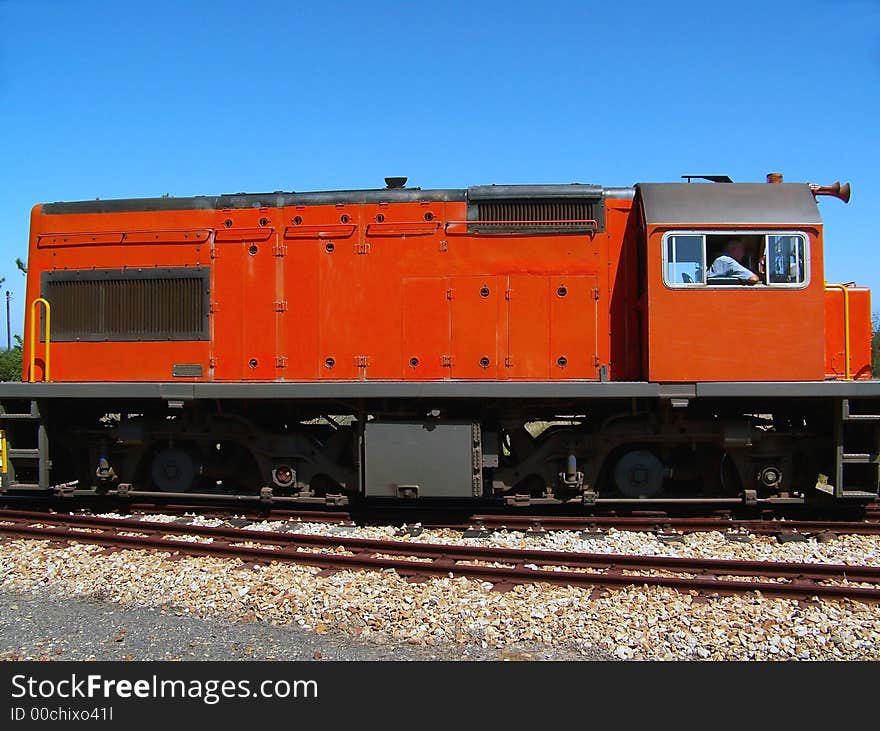
{"label": "low orange nose section right of the cab, behind yellow handrail", "polygon": [[[848,286],[849,298],[849,376],[871,378],[871,292],[867,287]],[[825,376],[845,378],[846,328],[843,291],[825,291]]]}

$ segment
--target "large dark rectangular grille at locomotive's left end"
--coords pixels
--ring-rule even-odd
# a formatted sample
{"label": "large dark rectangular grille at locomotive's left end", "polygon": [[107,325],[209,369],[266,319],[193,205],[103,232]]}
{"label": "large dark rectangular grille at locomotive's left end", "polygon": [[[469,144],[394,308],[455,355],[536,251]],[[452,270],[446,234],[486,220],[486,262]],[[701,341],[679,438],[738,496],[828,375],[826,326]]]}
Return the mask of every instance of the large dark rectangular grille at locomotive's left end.
{"label": "large dark rectangular grille at locomotive's left end", "polygon": [[203,268],[47,272],[52,339],[202,340],[208,337]]}

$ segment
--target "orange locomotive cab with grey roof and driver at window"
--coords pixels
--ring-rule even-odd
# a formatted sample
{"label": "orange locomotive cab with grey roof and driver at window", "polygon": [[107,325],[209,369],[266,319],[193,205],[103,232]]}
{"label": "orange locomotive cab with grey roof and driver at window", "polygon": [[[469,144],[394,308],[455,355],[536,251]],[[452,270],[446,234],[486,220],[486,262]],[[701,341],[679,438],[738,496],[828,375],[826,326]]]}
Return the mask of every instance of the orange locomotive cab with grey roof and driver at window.
{"label": "orange locomotive cab with grey roof and driver at window", "polygon": [[[648,380],[822,380],[825,339],[815,326],[824,318],[822,224],[809,186],[638,190]],[[737,243],[740,262],[730,255]]]}

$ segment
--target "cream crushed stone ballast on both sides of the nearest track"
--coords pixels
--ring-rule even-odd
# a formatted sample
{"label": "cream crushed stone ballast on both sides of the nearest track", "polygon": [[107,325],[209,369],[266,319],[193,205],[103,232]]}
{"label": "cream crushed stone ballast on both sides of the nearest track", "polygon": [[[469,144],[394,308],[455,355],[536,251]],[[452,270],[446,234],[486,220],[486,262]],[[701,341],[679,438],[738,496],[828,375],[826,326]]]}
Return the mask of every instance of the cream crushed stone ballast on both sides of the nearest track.
{"label": "cream crushed stone ballast on both sides of the nearest track", "polygon": [[[514,534],[499,535],[501,541],[513,540]],[[461,541],[455,538],[450,542]],[[621,544],[644,550],[653,545],[657,552],[672,549],[669,555],[681,555],[682,545],[696,550],[691,538],[669,546],[629,534]],[[603,551],[610,549],[602,543]],[[806,544],[778,549],[787,553],[792,545]],[[594,544],[592,550],[596,548]],[[633,549],[620,548],[626,550]],[[876,547],[872,550],[876,558]],[[825,560],[839,562],[844,555],[853,563],[867,562],[854,545]],[[0,542],[0,587],[32,593],[48,589],[60,596],[163,607],[194,616],[297,624],[319,634],[336,628],[377,641],[394,638],[425,645],[461,642],[500,648],[537,641],[585,651],[605,649],[621,659],[880,659],[880,606],[853,601],[798,602],[760,595],[702,599],[644,586],[591,591],[534,584],[500,593],[486,582],[466,578],[408,583],[393,571],[318,576],[316,568],[291,564],[245,569],[237,559],[170,561],[167,556],[7,539]],[[795,559],[789,554],[786,560]]]}

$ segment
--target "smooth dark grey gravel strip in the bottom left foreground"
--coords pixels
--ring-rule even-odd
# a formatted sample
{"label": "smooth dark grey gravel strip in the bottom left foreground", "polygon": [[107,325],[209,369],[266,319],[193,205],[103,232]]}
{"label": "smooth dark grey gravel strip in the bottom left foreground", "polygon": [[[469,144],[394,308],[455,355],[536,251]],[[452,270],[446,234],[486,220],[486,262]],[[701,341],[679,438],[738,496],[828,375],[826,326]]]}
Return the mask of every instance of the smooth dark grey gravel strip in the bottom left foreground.
{"label": "smooth dark grey gravel strip in the bottom left foreground", "polygon": [[608,660],[531,643],[503,649],[371,642],[296,625],[0,590],[0,660]]}

